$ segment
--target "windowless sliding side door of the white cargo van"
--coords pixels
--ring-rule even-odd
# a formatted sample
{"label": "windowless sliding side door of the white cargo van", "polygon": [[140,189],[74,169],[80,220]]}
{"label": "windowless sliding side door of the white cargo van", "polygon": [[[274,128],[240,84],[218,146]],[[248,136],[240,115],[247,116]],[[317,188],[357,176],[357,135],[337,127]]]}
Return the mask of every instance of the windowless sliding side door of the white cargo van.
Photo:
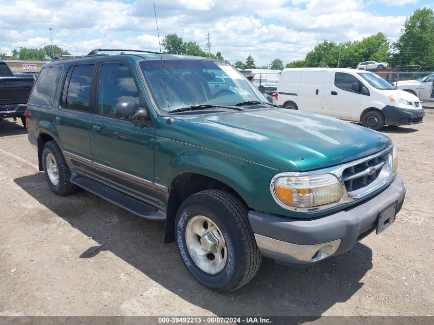
{"label": "windowless sliding side door of the white cargo van", "polygon": [[297,93],[299,110],[317,114],[322,112],[326,74],[326,71],[320,70],[303,71]]}

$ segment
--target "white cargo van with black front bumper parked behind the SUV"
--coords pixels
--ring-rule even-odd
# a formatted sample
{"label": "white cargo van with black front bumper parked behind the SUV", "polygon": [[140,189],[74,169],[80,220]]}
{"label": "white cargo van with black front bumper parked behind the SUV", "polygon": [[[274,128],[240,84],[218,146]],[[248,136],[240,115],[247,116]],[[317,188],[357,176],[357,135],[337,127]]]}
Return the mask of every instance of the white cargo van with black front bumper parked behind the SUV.
{"label": "white cargo van with black front bumper parked behind the SUV", "polygon": [[379,75],[357,69],[287,68],[280,75],[276,104],[362,122],[379,130],[421,123],[424,111],[419,99],[396,89]]}

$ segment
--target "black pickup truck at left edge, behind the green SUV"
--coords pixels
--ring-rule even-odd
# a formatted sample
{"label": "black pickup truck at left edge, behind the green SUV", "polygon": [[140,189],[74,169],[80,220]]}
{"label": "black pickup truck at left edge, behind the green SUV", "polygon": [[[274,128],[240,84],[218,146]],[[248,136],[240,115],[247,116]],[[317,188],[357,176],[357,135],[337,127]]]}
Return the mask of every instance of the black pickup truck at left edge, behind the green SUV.
{"label": "black pickup truck at left edge, behind the green SUV", "polygon": [[0,121],[21,118],[26,127],[24,112],[33,82],[33,79],[14,77],[8,65],[0,61]]}

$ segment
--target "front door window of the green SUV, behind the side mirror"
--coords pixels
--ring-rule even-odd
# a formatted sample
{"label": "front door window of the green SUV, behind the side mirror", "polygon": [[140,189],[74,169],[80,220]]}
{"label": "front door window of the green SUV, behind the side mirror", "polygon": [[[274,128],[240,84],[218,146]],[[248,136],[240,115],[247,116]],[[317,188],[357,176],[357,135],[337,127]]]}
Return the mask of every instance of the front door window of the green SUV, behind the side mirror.
{"label": "front door window of the green SUV, behind the side mirror", "polygon": [[133,100],[139,106],[140,92],[133,74],[123,64],[103,64],[98,81],[97,114],[116,117],[120,100]]}

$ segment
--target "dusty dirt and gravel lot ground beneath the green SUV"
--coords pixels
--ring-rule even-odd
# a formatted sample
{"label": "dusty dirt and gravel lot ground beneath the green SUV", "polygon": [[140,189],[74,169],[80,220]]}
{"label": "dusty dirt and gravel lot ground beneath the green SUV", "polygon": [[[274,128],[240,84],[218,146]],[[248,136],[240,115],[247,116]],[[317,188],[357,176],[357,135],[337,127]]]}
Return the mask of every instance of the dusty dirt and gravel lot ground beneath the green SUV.
{"label": "dusty dirt and gravel lot ground beneath the green SUV", "polygon": [[[434,110],[385,127],[407,197],[397,221],[308,268],[263,260],[231,294],[188,274],[164,223],[85,190],[50,192],[25,129],[0,122],[0,315],[432,315]],[[92,247],[106,243],[88,255]]]}

